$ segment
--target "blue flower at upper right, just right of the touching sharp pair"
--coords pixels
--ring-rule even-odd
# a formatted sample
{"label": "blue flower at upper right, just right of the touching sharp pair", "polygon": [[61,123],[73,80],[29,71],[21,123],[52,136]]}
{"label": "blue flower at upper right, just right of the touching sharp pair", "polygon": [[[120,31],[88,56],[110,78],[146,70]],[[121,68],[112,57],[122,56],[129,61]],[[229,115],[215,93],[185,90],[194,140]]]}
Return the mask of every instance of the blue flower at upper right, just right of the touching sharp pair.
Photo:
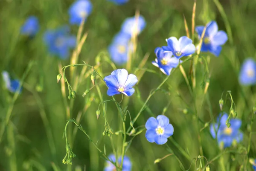
{"label": "blue flower at upper right, just right of the touching sharp pair", "polygon": [[[195,27],[195,31],[198,33],[198,38],[201,39],[204,26]],[[211,21],[207,24],[204,39],[201,47],[201,52],[211,52],[215,56],[219,56],[221,53],[221,45],[226,43],[227,33],[224,31],[218,31],[218,25],[215,21]]]}

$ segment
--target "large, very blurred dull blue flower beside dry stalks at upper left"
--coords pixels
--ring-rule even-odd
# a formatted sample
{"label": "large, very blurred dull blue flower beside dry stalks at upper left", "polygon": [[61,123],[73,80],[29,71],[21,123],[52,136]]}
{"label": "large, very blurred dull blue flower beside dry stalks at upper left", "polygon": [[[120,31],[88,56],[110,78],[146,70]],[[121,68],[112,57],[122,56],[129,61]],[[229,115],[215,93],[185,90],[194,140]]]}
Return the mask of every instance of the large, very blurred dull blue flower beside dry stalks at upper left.
{"label": "large, very blurred dull blue flower beside dry stalks at upper left", "polygon": [[63,26],[55,30],[47,30],[44,34],[44,42],[52,55],[66,59],[70,49],[76,46],[76,37],[70,35],[68,26]]}

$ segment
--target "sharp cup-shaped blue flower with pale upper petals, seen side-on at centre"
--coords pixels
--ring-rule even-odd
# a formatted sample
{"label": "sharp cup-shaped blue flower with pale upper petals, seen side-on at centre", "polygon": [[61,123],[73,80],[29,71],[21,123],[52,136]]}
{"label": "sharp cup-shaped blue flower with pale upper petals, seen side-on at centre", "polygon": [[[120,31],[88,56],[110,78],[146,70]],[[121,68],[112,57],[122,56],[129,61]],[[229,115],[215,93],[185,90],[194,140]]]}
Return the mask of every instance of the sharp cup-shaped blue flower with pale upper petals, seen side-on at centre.
{"label": "sharp cup-shaped blue flower with pale upper petals, seen side-on at centre", "polygon": [[125,69],[114,70],[111,75],[104,78],[108,86],[108,96],[123,93],[125,96],[131,96],[134,93],[132,88],[138,81],[137,77],[129,74]]}

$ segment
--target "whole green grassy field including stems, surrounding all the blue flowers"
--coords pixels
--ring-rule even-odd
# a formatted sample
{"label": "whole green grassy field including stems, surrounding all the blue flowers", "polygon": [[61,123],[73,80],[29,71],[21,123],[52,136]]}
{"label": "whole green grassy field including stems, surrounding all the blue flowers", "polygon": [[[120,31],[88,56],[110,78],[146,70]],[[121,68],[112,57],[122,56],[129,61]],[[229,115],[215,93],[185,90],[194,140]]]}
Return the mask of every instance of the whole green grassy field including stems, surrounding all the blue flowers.
{"label": "whole green grassy field including stems, surrounding all the blue flowers", "polygon": [[[79,27],[69,23],[73,0],[0,0],[0,72],[9,72],[22,87],[12,93],[0,77],[0,171],[103,171],[111,154],[129,157],[131,171],[253,171],[256,87],[242,85],[239,73],[247,58],[256,60],[256,0],[90,1],[92,12]],[[131,39],[131,67],[115,64],[108,47],[123,21],[138,12],[146,26]],[[31,15],[39,22],[34,37],[20,33]],[[167,46],[171,36],[189,33],[200,45],[194,27],[212,20],[228,36],[219,57],[197,50],[168,76],[151,64],[154,49]],[[49,53],[44,34],[64,25],[84,42],[61,59]],[[102,78],[122,68],[137,76],[135,93],[108,96]],[[74,98],[68,98],[69,85]],[[241,120],[243,139],[224,148],[210,126],[220,113],[233,119],[231,109]],[[145,137],[145,123],[158,115],[174,127],[163,145]]]}

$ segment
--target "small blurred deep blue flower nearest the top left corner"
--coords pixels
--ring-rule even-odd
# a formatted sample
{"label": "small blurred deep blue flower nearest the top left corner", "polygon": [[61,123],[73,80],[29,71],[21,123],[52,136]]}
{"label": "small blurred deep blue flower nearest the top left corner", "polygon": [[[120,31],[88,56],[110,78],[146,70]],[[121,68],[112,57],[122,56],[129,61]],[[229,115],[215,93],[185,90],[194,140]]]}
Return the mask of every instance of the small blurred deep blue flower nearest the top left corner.
{"label": "small blurred deep blue flower nearest the top left corner", "polygon": [[35,16],[30,16],[26,19],[23,26],[20,28],[20,34],[28,35],[30,37],[35,36],[35,34],[39,31],[39,23],[38,18]]}

